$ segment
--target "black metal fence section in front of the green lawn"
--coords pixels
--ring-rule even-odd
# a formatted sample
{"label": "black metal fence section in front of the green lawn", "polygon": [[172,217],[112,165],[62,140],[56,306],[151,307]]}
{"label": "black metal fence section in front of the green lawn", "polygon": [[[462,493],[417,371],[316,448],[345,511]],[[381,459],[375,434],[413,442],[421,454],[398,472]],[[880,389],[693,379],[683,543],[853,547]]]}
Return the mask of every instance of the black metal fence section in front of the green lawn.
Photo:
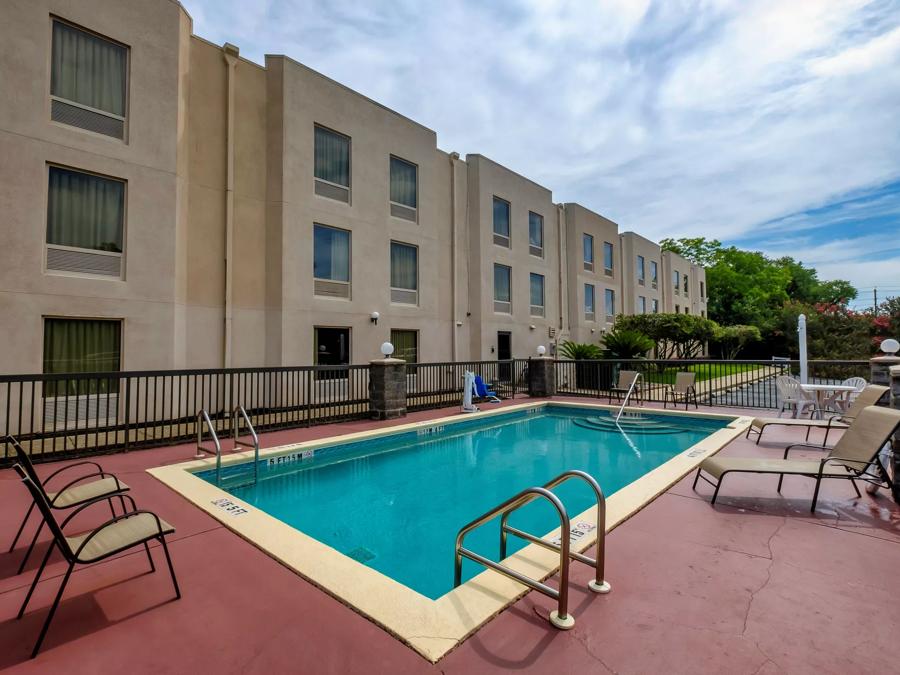
{"label": "black metal fence section in front of the green lawn", "polygon": [[[602,360],[557,361],[556,386],[560,395],[620,398],[617,389],[627,387],[622,371],[641,373],[639,398],[662,401],[679,372],[693,372],[701,405],[734,408],[779,408],[776,387],[779,375],[799,378],[796,360]],[[811,384],[838,384],[851,377],[869,379],[868,361],[809,361]]]}

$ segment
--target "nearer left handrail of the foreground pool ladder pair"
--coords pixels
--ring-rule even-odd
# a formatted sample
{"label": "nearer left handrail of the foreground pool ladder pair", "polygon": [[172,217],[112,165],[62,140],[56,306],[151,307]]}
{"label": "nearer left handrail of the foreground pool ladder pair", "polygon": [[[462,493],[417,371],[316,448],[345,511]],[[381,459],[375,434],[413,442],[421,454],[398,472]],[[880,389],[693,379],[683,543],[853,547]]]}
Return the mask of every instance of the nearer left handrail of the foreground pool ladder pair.
{"label": "nearer left handrail of the foreground pool ladder pair", "polygon": [[485,567],[492,569],[495,572],[499,572],[504,576],[514,579],[515,581],[518,581],[519,583],[524,584],[525,586],[528,586],[529,588],[539,591],[540,593],[543,593],[544,595],[556,600],[557,608],[550,612],[550,623],[556,628],[568,630],[575,625],[575,619],[572,618],[568,613],[569,537],[563,536],[560,539],[561,545],[559,549],[559,589],[548,586],[547,584],[537,581],[536,579],[532,579],[531,577],[527,577],[521,572],[511,569],[506,565],[501,565],[500,563],[494,562],[493,560],[485,558],[484,556],[463,547],[463,541],[466,534],[468,534],[475,528],[480,527],[481,525],[495,518],[501,513],[505,513],[507,511],[515,511],[525,504],[528,504],[540,498],[544,498],[549,501],[553,508],[556,509],[556,512],[559,515],[560,532],[568,533],[570,529],[569,514],[566,513],[566,507],[563,506],[562,502],[559,500],[559,497],[550,492],[550,490],[543,487],[526,488],[513,497],[510,497],[499,506],[496,506],[487,513],[479,516],[471,523],[460,529],[460,531],[457,533],[453,569],[453,587],[456,588],[460,585],[460,583],[462,583],[462,559],[464,557],[468,558],[469,560],[484,565]]}

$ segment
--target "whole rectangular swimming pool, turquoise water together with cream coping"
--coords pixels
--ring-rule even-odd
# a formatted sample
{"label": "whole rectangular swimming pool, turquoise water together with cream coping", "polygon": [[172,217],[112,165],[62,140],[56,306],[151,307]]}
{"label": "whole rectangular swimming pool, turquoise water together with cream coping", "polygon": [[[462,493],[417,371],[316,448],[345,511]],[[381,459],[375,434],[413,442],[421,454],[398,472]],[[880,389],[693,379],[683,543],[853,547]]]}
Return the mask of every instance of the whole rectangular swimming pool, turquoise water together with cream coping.
{"label": "whole rectangular swimming pool, turquoise water together with cream coping", "polygon": [[[589,402],[529,402],[267,448],[260,451],[265,464],[257,491],[267,493],[280,484],[284,494],[271,489],[258,505],[252,490],[232,484],[234,472],[252,474],[252,451],[222,458],[223,485],[203,478],[214,469],[214,458],[148,472],[434,663],[527,591],[487,570],[441,595],[450,585],[453,539],[468,522],[468,514],[462,512],[449,517],[452,509],[462,508],[461,504],[480,515],[522,487],[545,482],[563,470],[584,468],[607,493],[610,531],[745,433],[752,421],[657,410],[649,428],[629,431],[631,443],[622,438],[622,446],[593,431],[608,427],[609,412],[609,406]],[[579,425],[590,427],[590,434],[572,428]],[[664,428],[669,425],[679,429],[677,444],[666,443]],[[626,429],[633,426],[623,422]],[[298,438],[313,436],[307,430],[296,433]],[[601,438],[606,440],[596,442]],[[693,445],[685,448],[691,440]],[[604,449],[598,451],[601,446]],[[573,524],[590,528],[596,523],[593,502],[583,485],[573,482],[555,491],[563,497]],[[284,513],[272,515],[263,503],[269,500],[288,506]],[[400,505],[405,508],[389,508]],[[582,505],[585,509],[579,513]],[[531,524],[530,518],[535,519]],[[296,525],[288,522],[294,519]],[[541,532],[545,522],[551,531]],[[533,525],[537,534],[550,538],[559,535],[558,522],[540,506],[515,514],[512,523],[523,529]],[[472,532],[466,546],[496,551],[499,528],[495,523],[485,528],[485,534]],[[595,536],[596,530],[590,531],[574,549],[584,550]],[[428,555],[427,562],[398,560],[402,547]],[[431,548],[435,549],[431,554],[417,553]],[[422,564],[434,564],[434,582],[416,578]],[[558,567],[559,556],[531,544],[512,553],[504,564],[528,577],[545,579]],[[467,564],[467,575],[473,571],[478,572],[477,566]],[[606,576],[615,586],[614,566],[608,567]]]}

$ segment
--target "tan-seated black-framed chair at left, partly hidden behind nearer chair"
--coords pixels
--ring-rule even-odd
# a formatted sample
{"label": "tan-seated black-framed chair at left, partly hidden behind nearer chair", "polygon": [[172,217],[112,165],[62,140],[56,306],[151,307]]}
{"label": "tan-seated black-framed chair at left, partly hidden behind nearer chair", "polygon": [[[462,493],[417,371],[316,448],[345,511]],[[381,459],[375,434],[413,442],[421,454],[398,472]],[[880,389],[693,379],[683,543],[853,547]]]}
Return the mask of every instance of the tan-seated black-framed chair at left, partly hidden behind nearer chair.
{"label": "tan-seated black-framed chair at left, partly hidden behind nearer chair", "polygon": [[[47,500],[47,503],[50,505],[51,509],[71,509],[75,508],[76,506],[81,506],[82,504],[93,501],[98,497],[107,497],[109,495],[115,495],[122,492],[127,492],[129,490],[129,487],[125,485],[125,483],[120,481],[113,474],[106,473],[103,470],[103,467],[97,464],[97,462],[90,461],[75,462],[74,464],[69,464],[62,467],[61,469],[57,469],[49,476],[47,476],[44,480],[41,480],[37,475],[37,471],[35,471],[34,469],[34,464],[31,463],[31,457],[29,457],[28,453],[25,452],[24,448],[22,448],[19,442],[13,436],[7,436],[6,441],[10,443],[15,449],[16,461],[25,471],[25,474],[32,480],[32,482],[44,495],[44,498]],[[53,492],[47,490],[47,483],[49,483],[59,474],[70,469],[84,466],[91,466],[94,467],[94,469],[91,470],[90,473],[85,473],[78,476],[77,478],[73,478],[68,483],[63,485],[59,490]],[[13,543],[9,547],[10,553],[15,550],[16,543],[19,541],[19,537],[22,536],[22,532],[25,530],[25,524],[28,522],[28,518],[31,516],[31,512],[34,510],[34,506],[35,504],[34,502],[32,502],[31,506],[28,507],[28,511],[25,513],[25,518],[22,520],[22,524],[19,525],[19,531],[16,532],[16,537],[15,539],[13,539]],[[112,515],[116,515],[115,511],[113,511]],[[22,564],[19,566],[19,574],[21,574],[25,569],[25,563],[28,562],[28,558],[31,556],[31,552],[34,550],[34,544],[35,542],[37,542],[38,535],[40,535],[43,528],[44,523],[41,522],[34,533],[34,537],[32,537],[31,539],[31,545],[25,552],[25,557],[22,558]]]}

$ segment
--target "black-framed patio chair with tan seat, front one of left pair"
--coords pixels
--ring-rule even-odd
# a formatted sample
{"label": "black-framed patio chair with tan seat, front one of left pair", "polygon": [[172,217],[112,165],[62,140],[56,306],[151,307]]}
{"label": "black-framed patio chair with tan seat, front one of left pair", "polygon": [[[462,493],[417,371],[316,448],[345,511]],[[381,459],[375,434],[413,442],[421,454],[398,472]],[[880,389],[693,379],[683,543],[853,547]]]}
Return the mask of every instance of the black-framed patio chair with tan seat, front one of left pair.
{"label": "black-framed patio chair with tan seat, front one of left pair", "polygon": [[[147,543],[156,539],[162,544],[162,549],[166,554],[166,562],[169,565],[169,574],[172,575],[172,585],[175,587],[175,597],[181,597],[181,590],[178,588],[178,580],[175,578],[175,568],[172,566],[172,558],[169,556],[169,548],[166,545],[165,538],[167,534],[175,532],[174,527],[151,511],[138,510],[134,503],[134,499],[132,499],[130,495],[122,493],[98,497],[93,501],[84,503],[70,513],[62,523],[57,523],[56,519],[53,517],[50,503],[44,497],[44,491],[27,475],[26,471],[19,464],[15,465],[15,469],[22,478],[22,482],[31,493],[32,500],[37,505],[38,511],[40,511],[41,515],[44,517],[44,521],[50,527],[50,532],[53,534],[53,543],[47,548],[47,553],[41,561],[41,566],[34,575],[34,581],[31,582],[28,594],[22,602],[22,607],[19,609],[19,614],[16,616],[17,619],[21,619],[25,614],[25,609],[28,607],[28,601],[31,600],[31,596],[34,594],[34,589],[37,587],[41,574],[43,574],[44,568],[47,566],[47,561],[50,559],[50,554],[53,553],[53,549],[59,549],[59,552],[69,564],[69,567],[63,576],[62,584],[56,592],[56,598],[50,606],[50,613],[44,621],[44,627],[41,629],[37,643],[34,645],[34,650],[31,652],[31,658],[37,656],[38,650],[41,648],[41,643],[47,635],[47,629],[50,628],[50,622],[53,621],[53,615],[56,614],[56,608],[59,606],[59,601],[62,598],[63,591],[66,589],[66,584],[69,582],[69,577],[72,575],[72,570],[75,565],[90,565],[105,560],[117,553],[121,553],[122,551],[127,551],[135,546],[143,546],[144,550],[147,552],[147,559],[150,561],[150,571],[155,572],[156,565],[153,563],[153,556],[150,554],[150,547]],[[91,506],[108,501],[110,509],[112,509],[112,500],[114,497],[120,501],[122,510],[126,511],[126,513],[114,516],[112,519],[107,520],[105,523],[95,527],[89,532],[74,536],[66,536],[63,533],[63,529],[72,518]],[[131,504],[131,511],[127,511],[126,509],[126,500]]]}

